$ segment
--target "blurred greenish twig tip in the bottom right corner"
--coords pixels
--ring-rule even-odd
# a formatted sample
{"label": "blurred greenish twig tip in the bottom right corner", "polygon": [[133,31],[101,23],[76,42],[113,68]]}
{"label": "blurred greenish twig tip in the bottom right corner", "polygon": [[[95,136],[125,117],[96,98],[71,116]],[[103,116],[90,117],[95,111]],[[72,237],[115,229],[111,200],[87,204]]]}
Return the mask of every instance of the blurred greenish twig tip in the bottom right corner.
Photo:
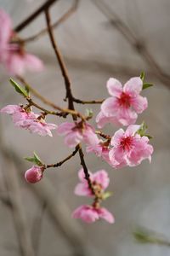
{"label": "blurred greenish twig tip in the bottom right corner", "polygon": [[170,247],[170,241],[155,231],[140,227],[133,232],[136,241],[140,243],[152,243],[160,246]]}

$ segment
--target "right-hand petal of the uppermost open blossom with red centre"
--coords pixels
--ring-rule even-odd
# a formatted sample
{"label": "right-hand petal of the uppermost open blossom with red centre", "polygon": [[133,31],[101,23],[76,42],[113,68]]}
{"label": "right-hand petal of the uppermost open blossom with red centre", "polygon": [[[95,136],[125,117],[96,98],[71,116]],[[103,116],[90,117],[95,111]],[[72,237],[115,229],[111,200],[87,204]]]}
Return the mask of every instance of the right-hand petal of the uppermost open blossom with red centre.
{"label": "right-hand petal of the uppermost open blossom with red centre", "polygon": [[131,99],[131,104],[137,113],[142,113],[148,107],[147,98],[143,96],[134,97]]}

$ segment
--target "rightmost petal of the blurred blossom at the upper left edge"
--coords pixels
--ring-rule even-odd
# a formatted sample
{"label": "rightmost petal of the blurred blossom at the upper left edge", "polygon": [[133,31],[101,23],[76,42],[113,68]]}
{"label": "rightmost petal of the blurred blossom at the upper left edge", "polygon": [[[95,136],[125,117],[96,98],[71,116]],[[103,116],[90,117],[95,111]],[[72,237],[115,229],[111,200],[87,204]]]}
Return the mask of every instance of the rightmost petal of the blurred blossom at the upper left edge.
{"label": "rightmost petal of the blurred blossom at the upper left edge", "polygon": [[35,55],[26,54],[24,63],[29,71],[42,71],[44,67],[42,61]]}

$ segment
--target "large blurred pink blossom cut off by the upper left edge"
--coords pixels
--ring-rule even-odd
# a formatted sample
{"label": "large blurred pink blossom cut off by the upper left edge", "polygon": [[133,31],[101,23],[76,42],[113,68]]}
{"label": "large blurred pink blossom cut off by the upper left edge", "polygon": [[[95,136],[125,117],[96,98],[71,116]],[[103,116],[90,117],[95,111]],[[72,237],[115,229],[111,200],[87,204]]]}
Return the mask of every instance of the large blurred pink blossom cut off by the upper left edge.
{"label": "large blurred pink blossom cut off by the upper left edge", "polygon": [[0,61],[11,75],[22,75],[25,70],[42,71],[43,64],[35,55],[27,54],[24,44],[12,29],[10,17],[0,9]]}

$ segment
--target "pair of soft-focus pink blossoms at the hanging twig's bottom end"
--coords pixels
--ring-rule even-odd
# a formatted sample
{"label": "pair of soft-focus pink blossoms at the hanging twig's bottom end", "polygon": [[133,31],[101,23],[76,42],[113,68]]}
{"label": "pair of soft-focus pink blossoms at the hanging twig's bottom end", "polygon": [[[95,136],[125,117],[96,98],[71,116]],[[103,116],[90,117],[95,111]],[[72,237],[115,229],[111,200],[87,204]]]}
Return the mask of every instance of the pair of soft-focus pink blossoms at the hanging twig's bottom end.
{"label": "pair of soft-focus pink blossoms at the hanging twig's bottom end", "polygon": [[78,207],[73,213],[73,218],[81,218],[86,223],[93,223],[94,221],[103,218],[107,222],[113,224],[115,219],[111,212],[105,207],[100,207],[100,201],[103,200],[105,189],[108,187],[110,179],[105,170],[100,170],[95,173],[88,172],[90,180],[94,188],[94,192],[89,188],[88,181],[84,178],[83,169],[78,172],[78,177],[81,183],[78,183],[75,188],[76,195],[94,196],[94,203],[92,206],[83,205]]}

